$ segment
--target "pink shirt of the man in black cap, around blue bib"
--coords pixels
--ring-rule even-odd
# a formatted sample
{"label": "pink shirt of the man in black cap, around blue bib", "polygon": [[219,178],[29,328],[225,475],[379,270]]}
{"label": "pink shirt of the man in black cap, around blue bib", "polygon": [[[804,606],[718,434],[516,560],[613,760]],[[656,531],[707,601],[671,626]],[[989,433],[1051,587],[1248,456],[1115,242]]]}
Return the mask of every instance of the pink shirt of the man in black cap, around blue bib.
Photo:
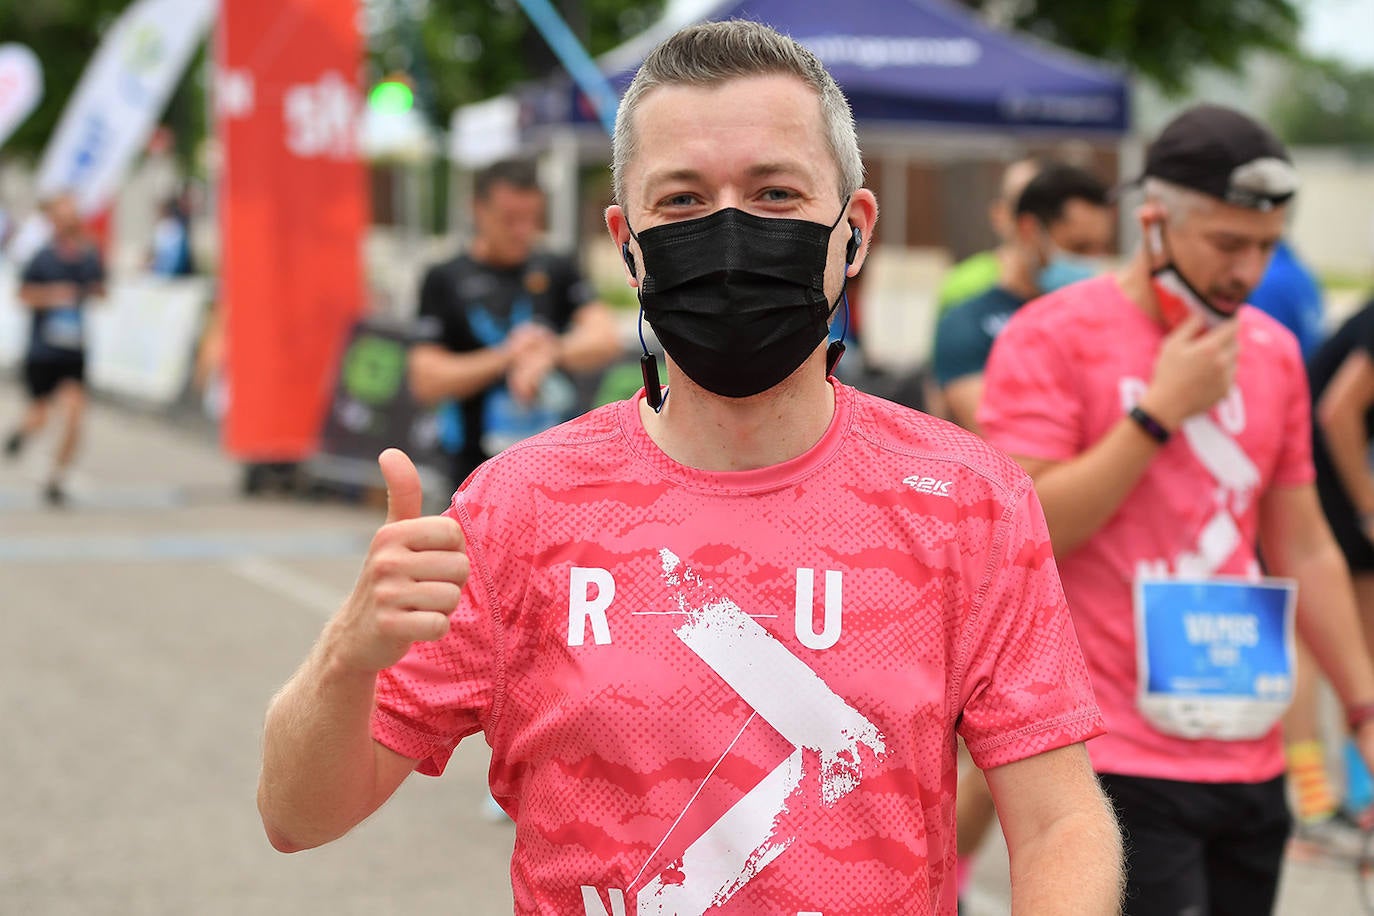
{"label": "pink shirt of the man in black cap, around blue bib", "polygon": [[[1160,449],[1106,525],[1059,558],[1063,591],[1107,733],[1088,743],[1099,773],[1254,783],[1283,772],[1275,726],[1260,740],[1162,735],[1136,710],[1132,582],[1139,573],[1257,577],[1259,503],[1314,479],[1307,374],[1297,341],[1241,309],[1235,386]],[[978,409],[1009,455],[1063,461],[1106,435],[1145,393],[1162,325],[1102,276],[1022,308],[998,338]]]}

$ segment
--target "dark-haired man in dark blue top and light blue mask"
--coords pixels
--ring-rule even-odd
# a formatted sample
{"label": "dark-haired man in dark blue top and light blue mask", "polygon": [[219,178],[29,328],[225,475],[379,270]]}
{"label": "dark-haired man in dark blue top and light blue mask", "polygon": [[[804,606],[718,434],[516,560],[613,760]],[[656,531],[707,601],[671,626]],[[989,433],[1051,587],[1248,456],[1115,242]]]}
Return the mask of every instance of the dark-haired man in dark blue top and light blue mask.
{"label": "dark-haired man in dark blue top and light blue mask", "polygon": [[936,325],[933,372],[951,419],[977,433],[982,367],[1007,321],[1028,301],[1092,276],[1106,254],[1114,214],[1107,187],[1072,165],[1048,165],[1017,198],[1009,257],[998,284],[966,299]]}

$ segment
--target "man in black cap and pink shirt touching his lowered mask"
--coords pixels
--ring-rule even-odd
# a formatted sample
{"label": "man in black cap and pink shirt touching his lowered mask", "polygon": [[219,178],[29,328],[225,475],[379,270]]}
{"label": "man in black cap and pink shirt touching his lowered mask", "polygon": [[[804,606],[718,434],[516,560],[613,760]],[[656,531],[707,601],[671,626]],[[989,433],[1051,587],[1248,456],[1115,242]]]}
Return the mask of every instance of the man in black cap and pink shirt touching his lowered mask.
{"label": "man in black cap and pink shirt touching his lowered mask", "polygon": [[[1149,146],[1143,184],[1147,244],[1011,319],[978,420],[1044,505],[1107,720],[1088,753],[1127,836],[1127,912],[1268,913],[1294,628],[1374,757],[1374,665],[1312,483],[1301,354],[1243,306],[1297,174],[1265,128],[1197,106]],[[1259,581],[1257,544],[1292,582]]]}

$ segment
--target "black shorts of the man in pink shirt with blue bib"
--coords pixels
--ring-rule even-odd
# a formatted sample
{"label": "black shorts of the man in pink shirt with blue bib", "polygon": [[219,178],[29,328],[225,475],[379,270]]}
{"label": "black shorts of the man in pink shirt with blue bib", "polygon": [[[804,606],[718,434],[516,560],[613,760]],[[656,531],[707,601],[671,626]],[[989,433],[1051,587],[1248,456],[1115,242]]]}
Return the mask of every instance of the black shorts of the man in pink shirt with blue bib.
{"label": "black shorts of the man in pink shirt with blue bib", "polygon": [[1127,916],[1264,916],[1292,828],[1283,777],[1182,783],[1098,776],[1125,839]]}

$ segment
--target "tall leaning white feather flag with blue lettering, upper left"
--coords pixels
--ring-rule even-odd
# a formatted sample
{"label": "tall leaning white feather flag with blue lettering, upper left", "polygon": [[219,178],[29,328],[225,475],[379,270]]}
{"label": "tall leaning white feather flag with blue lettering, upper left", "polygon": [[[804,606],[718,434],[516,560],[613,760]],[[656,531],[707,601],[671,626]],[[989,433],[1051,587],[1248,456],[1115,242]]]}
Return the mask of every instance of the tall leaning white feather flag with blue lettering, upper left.
{"label": "tall leaning white feather flag with blue lettering, upper left", "polygon": [[43,151],[38,194],[99,211],[147,143],[205,37],[216,0],[136,0],[106,32]]}

